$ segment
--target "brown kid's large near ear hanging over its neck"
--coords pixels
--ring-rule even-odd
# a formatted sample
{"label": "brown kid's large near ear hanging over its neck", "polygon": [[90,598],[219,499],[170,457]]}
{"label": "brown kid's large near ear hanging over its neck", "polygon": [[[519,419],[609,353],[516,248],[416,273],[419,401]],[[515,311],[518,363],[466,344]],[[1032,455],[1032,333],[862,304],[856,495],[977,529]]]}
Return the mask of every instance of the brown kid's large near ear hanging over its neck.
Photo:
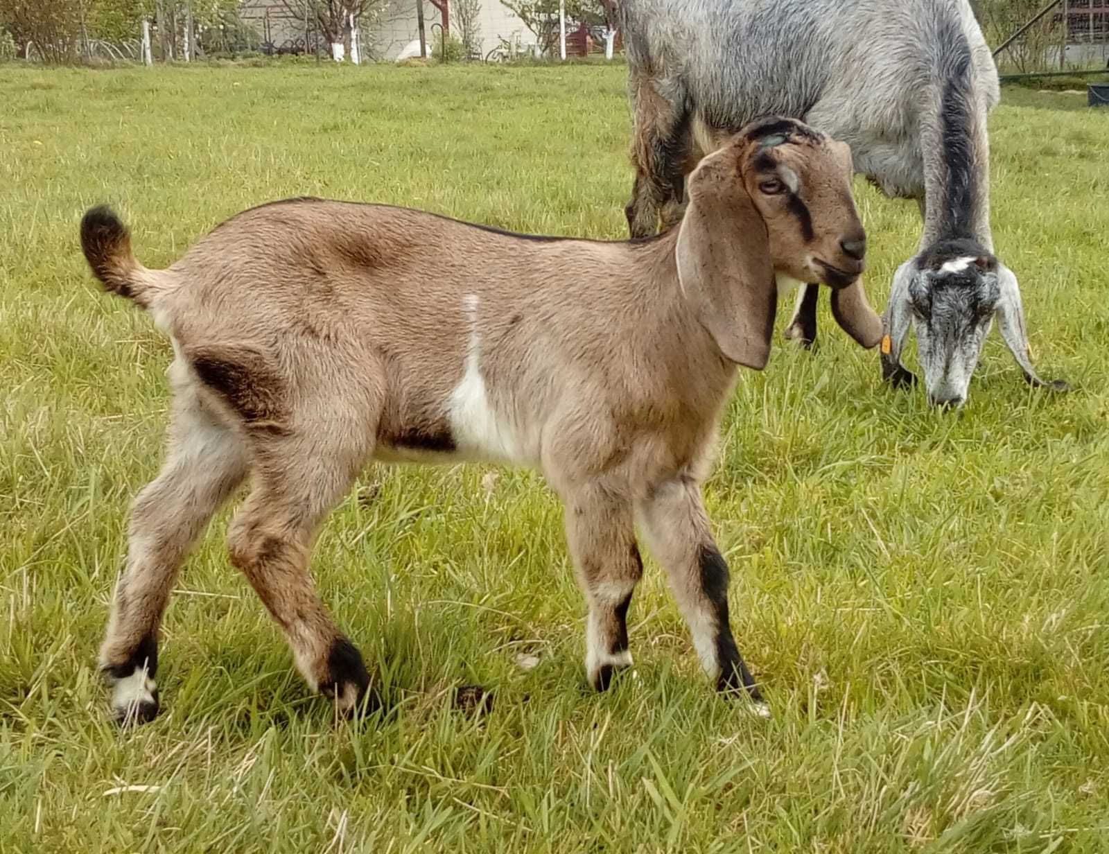
{"label": "brown kid's large near ear hanging over its neck", "polygon": [[740,145],[701,161],[686,181],[678,279],[698,318],[732,362],[762,370],[777,308],[766,224],[747,195]]}

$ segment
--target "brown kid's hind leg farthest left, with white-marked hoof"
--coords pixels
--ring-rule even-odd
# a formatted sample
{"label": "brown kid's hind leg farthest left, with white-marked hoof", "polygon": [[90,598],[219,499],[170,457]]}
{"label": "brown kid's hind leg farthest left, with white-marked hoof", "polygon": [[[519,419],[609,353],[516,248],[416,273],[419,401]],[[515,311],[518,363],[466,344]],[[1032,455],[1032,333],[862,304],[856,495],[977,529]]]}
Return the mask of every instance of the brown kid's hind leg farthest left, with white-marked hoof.
{"label": "brown kid's hind leg farthest left, with white-marked hoof", "polygon": [[170,591],[190,547],[246,471],[242,437],[204,405],[180,363],[171,376],[177,390],[166,461],[135,499],[126,566],[100,650],[121,722],[157,714],[157,632]]}

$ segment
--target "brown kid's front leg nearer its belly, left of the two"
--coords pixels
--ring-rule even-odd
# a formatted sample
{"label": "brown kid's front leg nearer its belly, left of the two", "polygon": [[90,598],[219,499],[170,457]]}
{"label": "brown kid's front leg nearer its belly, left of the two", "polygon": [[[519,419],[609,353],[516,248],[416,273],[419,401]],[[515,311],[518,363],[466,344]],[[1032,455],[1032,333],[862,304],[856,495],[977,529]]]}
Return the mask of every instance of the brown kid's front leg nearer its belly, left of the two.
{"label": "brown kid's front leg nearer its belly, left of the two", "polygon": [[566,502],[566,533],[589,602],[586,675],[606,691],[613,675],[631,667],[628,607],[643,576],[631,504],[600,487],[586,487]]}

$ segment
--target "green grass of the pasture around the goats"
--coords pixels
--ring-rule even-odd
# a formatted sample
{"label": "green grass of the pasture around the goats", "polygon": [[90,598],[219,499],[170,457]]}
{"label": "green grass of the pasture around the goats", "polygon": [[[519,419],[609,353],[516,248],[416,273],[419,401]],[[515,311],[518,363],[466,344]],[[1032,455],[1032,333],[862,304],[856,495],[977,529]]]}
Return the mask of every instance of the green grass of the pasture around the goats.
{"label": "green grass of the pasture around the goats", "polygon": [[[295,194],[620,237],[623,74],[0,70],[0,851],[1109,848],[1109,153],[1080,95],[991,120],[998,253],[1072,394],[995,335],[944,416],[826,313],[817,357],[779,338],[735,393],[708,501],[773,720],[712,694],[653,565],[634,674],[588,692],[558,502],[471,466],[368,470],[319,540],[393,719],[333,724],[223,514],[167,613],[163,715],[108,722],[95,652],[170,348],[92,282],[84,209],[122,210],[151,266]],[[858,201],[884,306],[916,209]],[[454,710],[461,684],[491,713]]]}

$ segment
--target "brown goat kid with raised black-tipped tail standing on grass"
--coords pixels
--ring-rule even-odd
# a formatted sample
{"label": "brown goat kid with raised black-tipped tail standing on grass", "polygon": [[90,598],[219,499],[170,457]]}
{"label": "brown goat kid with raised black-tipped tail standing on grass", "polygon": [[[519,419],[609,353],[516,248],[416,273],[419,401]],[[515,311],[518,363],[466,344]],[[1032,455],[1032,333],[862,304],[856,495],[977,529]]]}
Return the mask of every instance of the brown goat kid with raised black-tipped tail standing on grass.
{"label": "brown goat kid with raised black-tipped tail standing on grass", "polygon": [[[807,226],[787,184],[808,200]],[[133,508],[101,663],[124,721],[157,712],[157,633],[180,565],[250,476],[231,559],[307,682],[372,702],[363,659],[308,572],[326,514],[369,459],[530,465],[566,504],[599,690],[631,663],[635,523],[665,567],[705,670],[762,705],[729,627],[728,567],[701,498],[736,365],[770,354],[775,273],[851,291],[877,324],[846,145],[763,120],[690,177],[681,227],[643,242],[508,234],[385,205],[276,202],[167,270],[141,266],[108,209],[81,224],[109,291],[172,338],[166,462]],[[807,236],[806,236],[807,235]]]}

